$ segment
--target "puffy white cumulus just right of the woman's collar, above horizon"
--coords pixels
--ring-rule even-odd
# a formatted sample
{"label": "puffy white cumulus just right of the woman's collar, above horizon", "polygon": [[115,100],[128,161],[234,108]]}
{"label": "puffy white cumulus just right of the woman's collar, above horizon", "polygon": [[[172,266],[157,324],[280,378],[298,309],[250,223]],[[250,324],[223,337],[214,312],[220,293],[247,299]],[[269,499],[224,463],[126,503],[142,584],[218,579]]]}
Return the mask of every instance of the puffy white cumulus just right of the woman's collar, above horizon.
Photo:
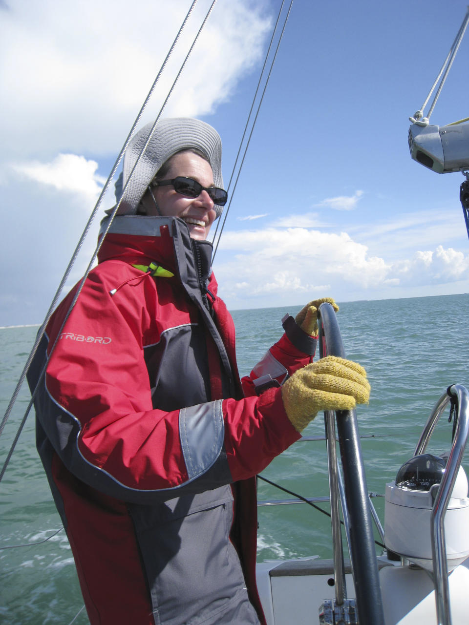
{"label": "puffy white cumulus just right of the woman's collar, above horizon", "polygon": [[[235,253],[227,259],[227,251]],[[275,295],[281,303],[334,295],[343,291],[343,284],[368,289],[381,284],[390,271],[383,259],[368,256],[367,247],[345,232],[273,227],[224,232],[220,253],[216,275],[233,307],[241,297],[248,306],[257,296]]]}

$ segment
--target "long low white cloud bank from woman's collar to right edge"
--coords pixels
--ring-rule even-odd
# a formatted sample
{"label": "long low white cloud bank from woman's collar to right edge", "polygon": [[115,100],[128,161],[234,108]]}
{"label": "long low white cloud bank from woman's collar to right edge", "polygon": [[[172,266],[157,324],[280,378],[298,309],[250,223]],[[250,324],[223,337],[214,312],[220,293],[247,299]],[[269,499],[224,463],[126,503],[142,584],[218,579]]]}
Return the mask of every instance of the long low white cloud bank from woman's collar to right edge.
{"label": "long low white cloud bank from woman's collar to right edge", "polygon": [[[469,255],[451,247],[390,262],[346,232],[268,228],[224,232],[216,276],[228,305],[280,306],[320,296],[373,299],[469,281]],[[402,289],[414,289],[411,292]]]}

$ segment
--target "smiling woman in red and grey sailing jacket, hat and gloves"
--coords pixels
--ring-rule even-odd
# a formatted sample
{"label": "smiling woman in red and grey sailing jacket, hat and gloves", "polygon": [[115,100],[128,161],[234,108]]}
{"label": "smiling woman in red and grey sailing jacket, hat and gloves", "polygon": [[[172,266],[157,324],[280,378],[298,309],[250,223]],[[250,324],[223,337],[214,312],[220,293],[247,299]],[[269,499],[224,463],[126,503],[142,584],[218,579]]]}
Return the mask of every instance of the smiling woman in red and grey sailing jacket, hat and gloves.
{"label": "smiling woman in red and grey sailing jacket, hat and gloves", "polygon": [[265,622],[254,476],[318,410],[370,387],[354,363],[324,359],[326,376],[310,364],[319,301],[284,320],[241,386],[206,241],[226,202],[221,141],[164,119],[138,160],[150,129],[124,157],[99,264],[31,369],[34,387],[56,342],[35,401],[39,454],[93,625]]}

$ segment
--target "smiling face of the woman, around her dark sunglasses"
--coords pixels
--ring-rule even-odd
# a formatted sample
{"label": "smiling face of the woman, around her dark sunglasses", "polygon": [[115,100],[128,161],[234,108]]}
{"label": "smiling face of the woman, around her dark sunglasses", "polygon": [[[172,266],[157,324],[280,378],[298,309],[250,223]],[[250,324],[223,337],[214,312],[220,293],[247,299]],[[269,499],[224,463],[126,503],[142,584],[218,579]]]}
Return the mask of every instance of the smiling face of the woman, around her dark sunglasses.
{"label": "smiling face of the woman, around her dark sunglasses", "polygon": [[[165,180],[185,176],[193,178],[203,187],[213,186],[213,172],[210,164],[201,156],[192,152],[174,154],[169,161],[169,171]],[[151,194],[147,191],[142,198],[142,204],[148,215],[161,214],[164,217],[179,217],[186,222],[189,234],[193,239],[206,239],[210,226],[213,224],[216,212],[213,200],[206,191],[198,197],[184,197],[174,191],[173,186],[152,187],[154,199],[159,207],[154,205]]]}

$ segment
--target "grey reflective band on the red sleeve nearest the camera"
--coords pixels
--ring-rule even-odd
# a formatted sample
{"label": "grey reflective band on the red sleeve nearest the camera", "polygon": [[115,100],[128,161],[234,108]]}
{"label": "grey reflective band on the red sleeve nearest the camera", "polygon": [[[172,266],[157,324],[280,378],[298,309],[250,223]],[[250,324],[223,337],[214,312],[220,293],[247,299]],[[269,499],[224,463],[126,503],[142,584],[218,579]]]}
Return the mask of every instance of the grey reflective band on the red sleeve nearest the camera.
{"label": "grey reflective band on the red sleeve nearest the camera", "polygon": [[223,448],[222,401],[179,410],[179,439],[189,480],[206,472]]}

